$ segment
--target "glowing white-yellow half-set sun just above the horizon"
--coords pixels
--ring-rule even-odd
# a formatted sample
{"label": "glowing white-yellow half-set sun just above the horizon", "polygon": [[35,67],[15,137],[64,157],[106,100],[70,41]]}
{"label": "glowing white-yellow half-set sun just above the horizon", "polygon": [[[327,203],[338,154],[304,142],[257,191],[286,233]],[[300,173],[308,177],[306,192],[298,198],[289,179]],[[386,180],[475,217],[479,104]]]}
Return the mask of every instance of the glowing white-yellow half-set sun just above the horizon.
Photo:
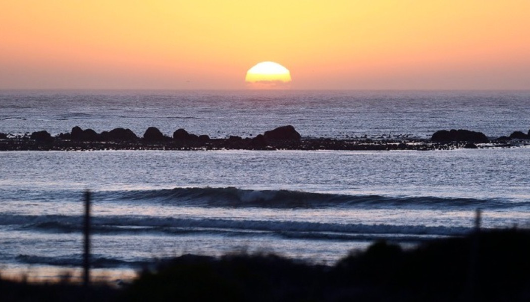
{"label": "glowing white-yellow half-set sun just above the horizon", "polygon": [[245,77],[251,88],[287,88],[290,81],[289,69],[271,61],[257,63],[246,72]]}

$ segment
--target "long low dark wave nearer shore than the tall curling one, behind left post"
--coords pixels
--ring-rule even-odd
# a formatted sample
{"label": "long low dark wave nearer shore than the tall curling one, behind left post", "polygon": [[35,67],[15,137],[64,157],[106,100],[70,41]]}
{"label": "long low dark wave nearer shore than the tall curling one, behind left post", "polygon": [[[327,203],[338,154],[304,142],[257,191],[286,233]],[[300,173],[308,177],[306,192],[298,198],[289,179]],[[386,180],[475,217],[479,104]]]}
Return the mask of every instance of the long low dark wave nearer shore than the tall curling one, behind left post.
{"label": "long low dark wave nearer shore than the tall curling one, behind left post", "polygon": [[[94,233],[222,233],[225,235],[275,235],[306,239],[354,240],[360,235],[378,238],[381,235],[419,238],[422,236],[458,236],[469,233],[469,227],[391,225],[391,224],[340,224],[295,221],[232,220],[219,218],[175,218],[146,216],[93,217]],[[1,225],[43,232],[81,232],[81,216],[62,215],[0,215]]]}

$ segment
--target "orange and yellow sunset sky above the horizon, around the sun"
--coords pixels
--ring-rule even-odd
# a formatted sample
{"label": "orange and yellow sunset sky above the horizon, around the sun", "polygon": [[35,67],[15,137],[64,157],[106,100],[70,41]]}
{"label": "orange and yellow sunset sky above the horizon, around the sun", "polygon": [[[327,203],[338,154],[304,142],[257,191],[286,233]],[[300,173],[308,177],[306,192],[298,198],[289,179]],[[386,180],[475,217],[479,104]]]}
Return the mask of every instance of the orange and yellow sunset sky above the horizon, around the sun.
{"label": "orange and yellow sunset sky above the horizon, around the sun", "polygon": [[0,89],[530,89],[528,0],[0,0]]}

